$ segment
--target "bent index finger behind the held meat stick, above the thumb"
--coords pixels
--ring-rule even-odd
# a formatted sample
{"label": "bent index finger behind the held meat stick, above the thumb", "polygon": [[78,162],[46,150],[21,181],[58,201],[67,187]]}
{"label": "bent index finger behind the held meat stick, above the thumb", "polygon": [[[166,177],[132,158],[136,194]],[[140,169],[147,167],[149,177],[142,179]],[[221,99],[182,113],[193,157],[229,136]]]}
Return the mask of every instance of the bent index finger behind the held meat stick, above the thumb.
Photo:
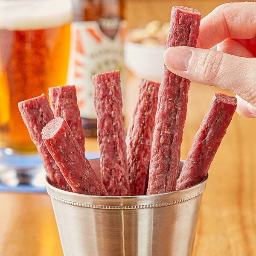
{"label": "bent index finger behind the held meat stick, above the thumb", "polygon": [[225,3],[201,20],[198,48],[211,48],[226,38],[256,36],[256,3]]}

